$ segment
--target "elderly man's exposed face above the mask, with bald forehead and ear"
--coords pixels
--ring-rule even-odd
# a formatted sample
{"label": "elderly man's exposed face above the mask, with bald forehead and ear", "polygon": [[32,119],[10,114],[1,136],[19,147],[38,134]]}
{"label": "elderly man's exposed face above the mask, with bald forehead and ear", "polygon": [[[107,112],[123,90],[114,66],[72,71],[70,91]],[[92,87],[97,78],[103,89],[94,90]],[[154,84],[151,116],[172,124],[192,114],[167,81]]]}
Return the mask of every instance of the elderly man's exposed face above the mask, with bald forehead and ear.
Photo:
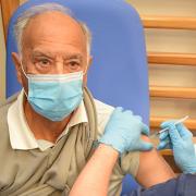
{"label": "elderly man's exposed face above the mask, with bald forehead and ear", "polygon": [[[22,63],[28,74],[87,71],[87,42],[79,24],[60,12],[46,12],[27,24],[22,35]],[[20,57],[13,53],[20,83],[27,89]]]}

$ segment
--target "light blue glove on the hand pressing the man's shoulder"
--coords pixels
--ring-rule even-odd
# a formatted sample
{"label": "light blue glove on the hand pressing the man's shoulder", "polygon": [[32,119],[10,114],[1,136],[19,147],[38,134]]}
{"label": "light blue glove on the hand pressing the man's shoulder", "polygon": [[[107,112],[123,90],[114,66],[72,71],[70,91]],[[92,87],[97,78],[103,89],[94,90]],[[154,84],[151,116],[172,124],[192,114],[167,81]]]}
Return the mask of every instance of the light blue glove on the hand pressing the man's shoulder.
{"label": "light blue glove on the hand pressing the man's shoulder", "polygon": [[149,135],[149,128],[142,118],[132,111],[117,108],[106,126],[102,137],[98,140],[112,146],[120,154],[132,150],[150,150],[152,144],[142,140],[140,135]]}

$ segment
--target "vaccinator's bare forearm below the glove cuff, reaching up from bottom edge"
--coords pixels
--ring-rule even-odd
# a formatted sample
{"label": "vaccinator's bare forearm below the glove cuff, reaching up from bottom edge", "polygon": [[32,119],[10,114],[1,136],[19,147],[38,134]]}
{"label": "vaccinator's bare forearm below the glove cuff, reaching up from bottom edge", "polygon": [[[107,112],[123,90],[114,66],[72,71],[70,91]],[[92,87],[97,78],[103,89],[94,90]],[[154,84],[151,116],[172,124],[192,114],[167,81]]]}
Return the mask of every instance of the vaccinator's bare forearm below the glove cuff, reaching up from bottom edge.
{"label": "vaccinator's bare forearm below the glove cuff, reaching up from bottom edge", "polygon": [[119,152],[100,144],[75,181],[70,196],[107,196],[110,175]]}

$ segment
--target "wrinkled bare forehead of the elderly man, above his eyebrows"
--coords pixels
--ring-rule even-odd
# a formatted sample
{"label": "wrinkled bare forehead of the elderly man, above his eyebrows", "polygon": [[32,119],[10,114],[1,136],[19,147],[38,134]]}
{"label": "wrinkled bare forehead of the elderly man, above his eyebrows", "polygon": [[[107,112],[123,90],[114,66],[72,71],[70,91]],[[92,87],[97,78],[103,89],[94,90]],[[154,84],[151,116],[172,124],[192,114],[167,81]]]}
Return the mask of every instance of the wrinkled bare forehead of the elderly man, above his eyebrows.
{"label": "wrinkled bare forehead of the elderly man, above his eyebrows", "polygon": [[34,16],[26,25],[22,37],[24,48],[34,48],[40,42],[46,42],[72,45],[81,50],[86,50],[86,37],[78,22],[58,11]]}

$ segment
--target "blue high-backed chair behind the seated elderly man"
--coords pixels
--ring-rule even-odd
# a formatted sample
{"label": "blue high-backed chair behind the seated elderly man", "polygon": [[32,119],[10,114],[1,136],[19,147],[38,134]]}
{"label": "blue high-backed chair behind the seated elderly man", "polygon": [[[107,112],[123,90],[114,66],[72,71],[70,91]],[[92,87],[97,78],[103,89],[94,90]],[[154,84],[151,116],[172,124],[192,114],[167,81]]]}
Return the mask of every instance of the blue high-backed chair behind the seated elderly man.
{"label": "blue high-backed chair behind the seated elderly man", "polygon": [[[7,97],[21,87],[11,52],[16,51],[13,24],[33,4],[58,2],[70,8],[93,32],[94,62],[88,73],[93,95],[109,105],[122,106],[149,121],[148,71],[143,25],[138,13],[123,0],[29,0],[14,13],[8,30]],[[137,183],[126,175],[122,195]]]}

